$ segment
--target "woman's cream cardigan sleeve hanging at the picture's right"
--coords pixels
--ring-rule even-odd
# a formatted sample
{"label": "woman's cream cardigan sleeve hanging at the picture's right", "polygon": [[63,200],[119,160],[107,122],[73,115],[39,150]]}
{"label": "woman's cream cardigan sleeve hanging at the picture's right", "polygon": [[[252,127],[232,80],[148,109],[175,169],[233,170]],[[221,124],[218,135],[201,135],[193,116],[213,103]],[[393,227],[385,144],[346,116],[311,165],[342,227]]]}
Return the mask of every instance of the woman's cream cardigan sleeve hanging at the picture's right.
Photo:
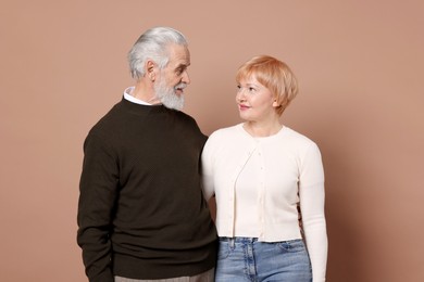
{"label": "woman's cream cardigan sleeve hanging at the picture's right", "polygon": [[324,216],[324,169],[315,143],[302,156],[299,181],[300,208],[313,282],[325,281],[327,233]]}

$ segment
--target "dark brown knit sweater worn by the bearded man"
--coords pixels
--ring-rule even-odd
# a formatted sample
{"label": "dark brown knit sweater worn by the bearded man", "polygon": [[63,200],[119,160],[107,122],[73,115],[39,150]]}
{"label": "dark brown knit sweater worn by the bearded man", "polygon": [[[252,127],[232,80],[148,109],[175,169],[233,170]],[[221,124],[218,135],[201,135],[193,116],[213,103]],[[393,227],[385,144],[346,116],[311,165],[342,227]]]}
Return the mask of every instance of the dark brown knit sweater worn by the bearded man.
{"label": "dark brown knit sweater worn by the bearded man", "polygon": [[123,99],[84,143],[77,242],[90,281],[165,279],[214,267],[216,231],[195,119]]}

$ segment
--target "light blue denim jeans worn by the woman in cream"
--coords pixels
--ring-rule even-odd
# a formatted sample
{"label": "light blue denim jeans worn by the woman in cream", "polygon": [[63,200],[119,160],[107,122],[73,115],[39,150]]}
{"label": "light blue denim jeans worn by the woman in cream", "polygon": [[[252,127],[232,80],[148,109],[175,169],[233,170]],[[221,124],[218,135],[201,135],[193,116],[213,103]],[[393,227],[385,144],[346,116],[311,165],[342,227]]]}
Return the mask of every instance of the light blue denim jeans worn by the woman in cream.
{"label": "light blue denim jeans worn by the woman in cream", "polygon": [[276,243],[254,238],[220,238],[216,282],[311,282],[312,268],[302,240]]}

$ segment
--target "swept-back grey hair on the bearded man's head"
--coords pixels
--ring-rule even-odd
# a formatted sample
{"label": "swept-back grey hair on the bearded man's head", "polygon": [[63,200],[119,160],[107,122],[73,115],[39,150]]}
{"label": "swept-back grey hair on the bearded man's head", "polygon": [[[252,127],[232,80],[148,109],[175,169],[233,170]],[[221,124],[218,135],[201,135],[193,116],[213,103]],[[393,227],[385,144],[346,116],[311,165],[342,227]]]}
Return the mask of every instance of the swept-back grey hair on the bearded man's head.
{"label": "swept-back grey hair on the bearded man's head", "polygon": [[187,40],[182,33],[171,27],[153,27],[144,33],[128,52],[132,77],[139,79],[145,76],[147,60],[164,68],[170,60],[167,47],[172,43],[187,46]]}

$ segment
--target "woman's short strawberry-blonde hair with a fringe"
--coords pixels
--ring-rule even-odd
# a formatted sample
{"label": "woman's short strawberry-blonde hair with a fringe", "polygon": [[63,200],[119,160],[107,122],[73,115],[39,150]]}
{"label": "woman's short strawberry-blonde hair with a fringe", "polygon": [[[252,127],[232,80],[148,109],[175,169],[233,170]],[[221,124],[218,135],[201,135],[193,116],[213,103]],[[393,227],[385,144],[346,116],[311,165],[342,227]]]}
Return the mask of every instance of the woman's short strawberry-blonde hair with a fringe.
{"label": "woman's short strawberry-blonde hair with a fringe", "polygon": [[274,94],[278,115],[283,114],[298,93],[295,74],[286,63],[270,55],[253,56],[238,68],[237,84],[250,77],[254,77]]}

